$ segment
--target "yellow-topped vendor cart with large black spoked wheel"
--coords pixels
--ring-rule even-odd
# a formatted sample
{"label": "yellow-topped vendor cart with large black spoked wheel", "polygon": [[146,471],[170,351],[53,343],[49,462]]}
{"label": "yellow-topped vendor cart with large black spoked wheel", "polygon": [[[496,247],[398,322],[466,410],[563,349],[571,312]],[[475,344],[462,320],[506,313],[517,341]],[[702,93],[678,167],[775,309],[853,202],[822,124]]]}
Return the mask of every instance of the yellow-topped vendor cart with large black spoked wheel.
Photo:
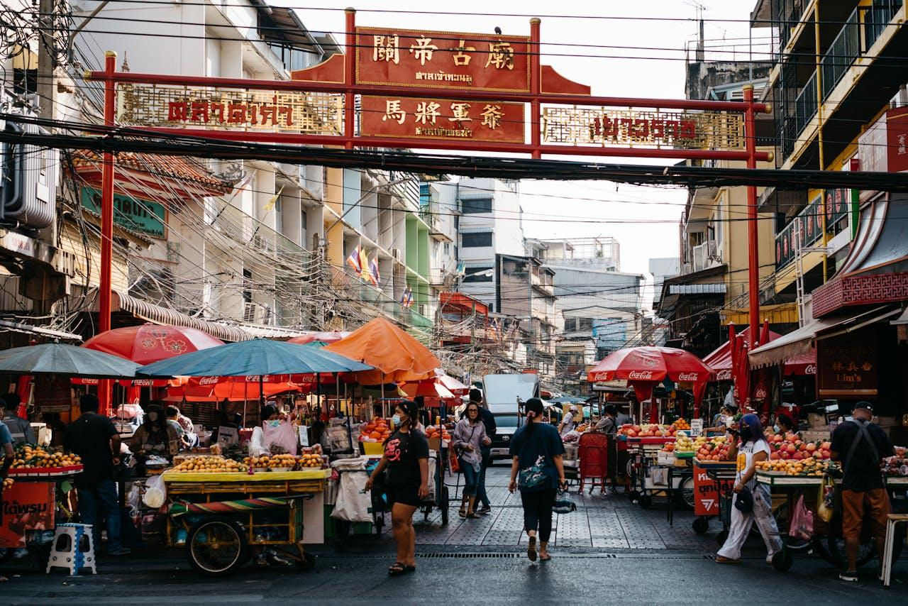
{"label": "yellow-topped vendor cart with large black spoked wheel", "polygon": [[[315,560],[303,549],[303,502],[325,490],[330,470],[163,473],[166,541],[183,547],[203,574],[236,570],[258,546],[281,551],[301,570]],[[322,515],[322,512],[319,512]]]}

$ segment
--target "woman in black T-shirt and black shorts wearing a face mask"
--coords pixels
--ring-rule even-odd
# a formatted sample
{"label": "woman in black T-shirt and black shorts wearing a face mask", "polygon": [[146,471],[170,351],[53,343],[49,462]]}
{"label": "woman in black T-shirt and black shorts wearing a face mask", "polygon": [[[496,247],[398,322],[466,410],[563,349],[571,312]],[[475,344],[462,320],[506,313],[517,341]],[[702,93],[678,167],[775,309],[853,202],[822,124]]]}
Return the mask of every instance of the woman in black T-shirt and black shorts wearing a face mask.
{"label": "woman in black T-shirt and black shorts wearing a face mask", "polygon": [[391,564],[388,573],[397,576],[416,570],[413,512],[429,496],[429,441],[416,429],[419,423],[416,402],[400,402],[392,421],[397,429],[385,441],[385,453],[366,481],[366,490],[372,490],[376,476],[387,470],[385,485],[398,547],[397,561]]}

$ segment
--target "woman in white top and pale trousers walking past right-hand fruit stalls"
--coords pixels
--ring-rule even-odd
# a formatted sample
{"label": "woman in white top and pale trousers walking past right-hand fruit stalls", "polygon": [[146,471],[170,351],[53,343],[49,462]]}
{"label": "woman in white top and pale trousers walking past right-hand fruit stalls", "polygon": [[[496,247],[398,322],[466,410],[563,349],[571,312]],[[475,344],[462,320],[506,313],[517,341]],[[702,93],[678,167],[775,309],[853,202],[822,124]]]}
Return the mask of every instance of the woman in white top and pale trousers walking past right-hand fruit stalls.
{"label": "woman in white top and pale trousers walking past right-hand fruit stalls", "polygon": [[[728,460],[737,462],[735,503],[732,507],[732,523],[728,538],[716,554],[716,561],[720,564],[741,563],[741,547],[747,540],[750,527],[756,522],[766,543],[766,561],[772,562],[775,553],[782,551],[782,540],[779,538],[779,529],[773,518],[773,501],[769,489],[756,482],[756,463],[769,458],[769,444],[763,434],[763,425],[755,414],[745,414],[741,417],[738,431],[730,430],[728,433],[730,442]],[[745,498],[742,503],[745,512],[741,511],[738,504],[742,499],[742,492],[745,494],[750,492],[753,495],[752,499]],[[751,502],[750,507],[745,504],[747,501]]]}

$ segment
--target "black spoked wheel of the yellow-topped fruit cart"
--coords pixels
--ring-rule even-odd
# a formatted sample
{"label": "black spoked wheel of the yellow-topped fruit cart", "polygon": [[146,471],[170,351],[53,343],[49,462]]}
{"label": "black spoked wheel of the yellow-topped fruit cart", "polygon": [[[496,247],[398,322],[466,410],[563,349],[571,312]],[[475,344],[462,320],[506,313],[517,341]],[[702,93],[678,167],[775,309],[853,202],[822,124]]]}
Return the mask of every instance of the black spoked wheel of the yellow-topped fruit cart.
{"label": "black spoked wheel of the yellow-topped fruit cart", "polygon": [[225,515],[203,518],[186,537],[186,559],[202,574],[229,574],[248,558],[249,541],[245,533],[240,524]]}

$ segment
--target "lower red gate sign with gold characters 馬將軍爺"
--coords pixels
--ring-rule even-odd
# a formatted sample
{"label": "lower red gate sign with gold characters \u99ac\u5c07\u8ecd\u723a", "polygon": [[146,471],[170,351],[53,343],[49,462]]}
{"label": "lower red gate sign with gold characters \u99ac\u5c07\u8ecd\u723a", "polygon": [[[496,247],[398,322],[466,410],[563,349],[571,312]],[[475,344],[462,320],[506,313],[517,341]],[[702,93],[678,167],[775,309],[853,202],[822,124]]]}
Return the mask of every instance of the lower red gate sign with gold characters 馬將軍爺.
{"label": "lower red gate sign with gold characters \u99ac\u5c07\u8ecd\u723a", "polygon": [[525,143],[524,104],[363,95],[360,135]]}

